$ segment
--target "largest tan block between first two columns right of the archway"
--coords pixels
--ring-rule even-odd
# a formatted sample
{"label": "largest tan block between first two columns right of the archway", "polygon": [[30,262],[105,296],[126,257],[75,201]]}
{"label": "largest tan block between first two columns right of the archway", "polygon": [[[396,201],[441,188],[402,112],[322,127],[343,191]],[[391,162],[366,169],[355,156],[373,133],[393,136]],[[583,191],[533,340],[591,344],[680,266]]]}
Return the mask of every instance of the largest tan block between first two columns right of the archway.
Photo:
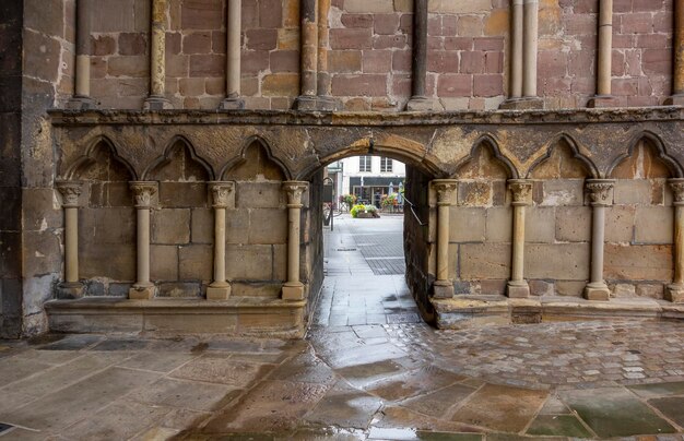
{"label": "largest tan block between first two columns right of the archway", "polygon": [[508,278],[510,246],[504,243],[462,243],[459,247],[462,279]]}

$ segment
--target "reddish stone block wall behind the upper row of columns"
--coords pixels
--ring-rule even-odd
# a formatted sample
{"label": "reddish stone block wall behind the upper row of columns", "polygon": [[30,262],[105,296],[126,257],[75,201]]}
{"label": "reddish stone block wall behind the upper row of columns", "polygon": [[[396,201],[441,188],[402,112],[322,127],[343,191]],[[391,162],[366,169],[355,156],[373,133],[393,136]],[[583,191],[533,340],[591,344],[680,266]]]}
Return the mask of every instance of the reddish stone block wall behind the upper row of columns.
{"label": "reddish stone block wall behind the upper row of columns", "polygon": [[[103,108],[139,109],[150,81],[149,0],[94,3],[92,95]],[[426,95],[438,107],[496,109],[506,98],[509,3],[429,2]],[[538,93],[546,108],[583,107],[595,94],[598,3],[540,2]],[[344,109],[404,109],[412,11],[410,0],[332,1],[329,71],[332,95]],[[670,96],[672,14],[672,0],[615,1],[616,105],[658,105]],[[225,1],[168,1],[166,95],[175,108],[215,109],[225,97]],[[247,108],[291,108],[299,94],[299,1],[244,1],[241,22]]]}

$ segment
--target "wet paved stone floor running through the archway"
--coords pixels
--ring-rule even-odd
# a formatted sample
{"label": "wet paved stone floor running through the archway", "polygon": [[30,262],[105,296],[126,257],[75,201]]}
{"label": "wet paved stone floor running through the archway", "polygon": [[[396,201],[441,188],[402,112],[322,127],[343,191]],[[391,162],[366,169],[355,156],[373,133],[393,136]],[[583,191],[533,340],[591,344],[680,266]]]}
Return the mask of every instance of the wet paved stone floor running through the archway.
{"label": "wet paved stone floor running through the archway", "polygon": [[306,341],[0,341],[0,441],[684,440],[684,323],[436,331],[335,221]]}

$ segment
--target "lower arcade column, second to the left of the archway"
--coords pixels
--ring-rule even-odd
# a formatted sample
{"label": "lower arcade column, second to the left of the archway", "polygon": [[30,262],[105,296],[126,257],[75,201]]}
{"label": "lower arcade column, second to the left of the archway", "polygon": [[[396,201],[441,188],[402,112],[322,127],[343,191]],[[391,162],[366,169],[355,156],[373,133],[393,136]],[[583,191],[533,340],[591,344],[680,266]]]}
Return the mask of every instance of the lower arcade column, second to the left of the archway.
{"label": "lower arcade column, second to the left of the archway", "polygon": [[207,288],[208,300],[225,300],[231,296],[231,284],[225,276],[225,211],[228,207],[233,182],[211,182],[214,207],[214,281]]}

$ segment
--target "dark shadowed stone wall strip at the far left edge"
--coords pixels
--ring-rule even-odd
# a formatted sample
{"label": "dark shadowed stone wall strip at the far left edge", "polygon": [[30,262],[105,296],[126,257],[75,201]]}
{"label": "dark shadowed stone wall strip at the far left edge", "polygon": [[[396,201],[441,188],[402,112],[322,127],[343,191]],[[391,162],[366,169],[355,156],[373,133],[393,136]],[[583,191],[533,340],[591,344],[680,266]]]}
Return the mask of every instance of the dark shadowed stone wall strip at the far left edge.
{"label": "dark shadowed stone wall strip at the far left edge", "polygon": [[0,4],[0,338],[17,337],[22,319],[22,2]]}

